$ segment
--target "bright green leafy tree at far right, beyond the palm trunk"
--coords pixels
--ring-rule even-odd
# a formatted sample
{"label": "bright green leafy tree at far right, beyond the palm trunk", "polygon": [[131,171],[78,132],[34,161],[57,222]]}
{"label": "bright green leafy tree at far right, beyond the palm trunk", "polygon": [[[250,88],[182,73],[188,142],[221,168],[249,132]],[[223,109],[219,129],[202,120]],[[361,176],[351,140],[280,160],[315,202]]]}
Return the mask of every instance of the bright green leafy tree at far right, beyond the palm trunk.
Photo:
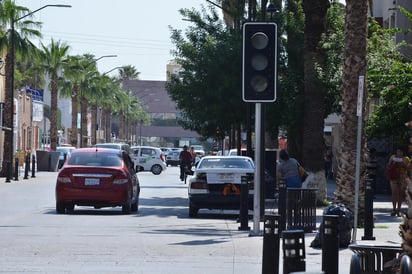
{"label": "bright green leafy tree at far right, beyond the palm trunk", "polygon": [[[411,120],[408,107],[412,102],[410,60],[399,52],[404,43],[395,44],[395,30],[383,30],[372,25],[368,48],[368,89],[372,112],[367,121],[368,139],[393,136],[397,146],[407,143],[405,122]],[[374,104],[379,98],[379,104]]]}

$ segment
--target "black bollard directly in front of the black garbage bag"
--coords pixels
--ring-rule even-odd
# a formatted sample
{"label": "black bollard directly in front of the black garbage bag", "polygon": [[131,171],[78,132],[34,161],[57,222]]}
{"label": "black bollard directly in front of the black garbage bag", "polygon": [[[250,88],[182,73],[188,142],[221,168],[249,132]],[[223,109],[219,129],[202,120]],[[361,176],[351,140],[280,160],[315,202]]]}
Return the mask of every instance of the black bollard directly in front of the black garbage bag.
{"label": "black bollard directly in front of the black garbage bag", "polygon": [[339,216],[324,215],[322,226],[322,270],[325,274],[339,272]]}

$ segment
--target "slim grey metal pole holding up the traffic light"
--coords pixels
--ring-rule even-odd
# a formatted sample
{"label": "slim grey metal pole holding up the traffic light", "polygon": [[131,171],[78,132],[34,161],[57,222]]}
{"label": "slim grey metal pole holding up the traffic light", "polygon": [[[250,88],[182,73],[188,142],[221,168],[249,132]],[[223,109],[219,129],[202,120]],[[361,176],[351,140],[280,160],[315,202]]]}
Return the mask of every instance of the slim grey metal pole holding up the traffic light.
{"label": "slim grey metal pole holding up the traffic light", "polygon": [[255,178],[254,178],[254,194],[253,194],[253,236],[260,234],[260,187],[261,187],[261,173],[260,167],[262,165],[260,153],[262,148],[261,134],[262,134],[262,104],[256,103],[255,114]]}

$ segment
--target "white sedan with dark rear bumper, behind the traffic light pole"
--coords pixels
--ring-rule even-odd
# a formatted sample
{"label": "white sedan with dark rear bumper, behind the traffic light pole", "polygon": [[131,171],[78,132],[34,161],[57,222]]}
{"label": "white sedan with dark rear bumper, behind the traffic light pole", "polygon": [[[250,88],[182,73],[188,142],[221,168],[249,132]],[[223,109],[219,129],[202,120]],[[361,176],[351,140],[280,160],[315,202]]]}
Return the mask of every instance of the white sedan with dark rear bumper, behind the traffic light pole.
{"label": "white sedan with dark rear bumper, behind the traffic light pole", "polygon": [[239,209],[241,177],[248,176],[249,208],[253,208],[255,165],[245,156],[205,156],[188,184],[189,217],[199,209]]}

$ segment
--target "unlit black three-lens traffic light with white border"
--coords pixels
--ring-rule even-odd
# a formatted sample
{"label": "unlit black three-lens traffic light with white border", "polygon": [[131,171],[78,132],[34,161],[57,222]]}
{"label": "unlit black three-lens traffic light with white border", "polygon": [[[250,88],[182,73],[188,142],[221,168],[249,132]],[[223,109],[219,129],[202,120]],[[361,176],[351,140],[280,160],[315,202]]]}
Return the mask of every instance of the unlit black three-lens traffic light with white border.
{"label": "unlit black three-lens traffic light with white border", "polygon": [[275,23],[248,22],[243,25],[243,101],[276,100],[276,51]]}

